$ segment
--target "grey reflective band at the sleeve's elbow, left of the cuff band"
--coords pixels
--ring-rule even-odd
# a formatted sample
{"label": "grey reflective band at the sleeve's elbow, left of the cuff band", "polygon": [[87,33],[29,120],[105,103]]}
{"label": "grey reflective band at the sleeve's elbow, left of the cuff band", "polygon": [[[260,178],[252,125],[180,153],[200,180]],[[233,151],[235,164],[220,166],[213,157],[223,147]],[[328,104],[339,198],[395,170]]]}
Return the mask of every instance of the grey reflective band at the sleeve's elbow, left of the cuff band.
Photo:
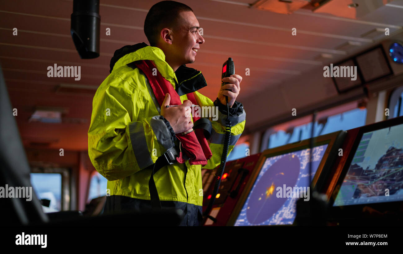
{"label": "grey reflective band at the sleeve's elbow, left of the cuff band", "polygon": [[153,164],[145,141],[144,128],[142,122],[129,123],[129,133],[134,156],[140,169]]}

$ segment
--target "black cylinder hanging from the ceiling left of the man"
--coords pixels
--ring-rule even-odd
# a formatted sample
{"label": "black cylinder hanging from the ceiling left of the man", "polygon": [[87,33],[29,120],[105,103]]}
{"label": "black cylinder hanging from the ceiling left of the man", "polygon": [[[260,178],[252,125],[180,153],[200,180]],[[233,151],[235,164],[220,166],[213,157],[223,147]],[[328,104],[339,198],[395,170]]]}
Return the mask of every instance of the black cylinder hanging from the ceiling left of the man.
{"label": "black cylinder hanging from the ceiling left of the man", "polygon": [[100,1],[74,0],[71,37],[82,59],[100,56]]}

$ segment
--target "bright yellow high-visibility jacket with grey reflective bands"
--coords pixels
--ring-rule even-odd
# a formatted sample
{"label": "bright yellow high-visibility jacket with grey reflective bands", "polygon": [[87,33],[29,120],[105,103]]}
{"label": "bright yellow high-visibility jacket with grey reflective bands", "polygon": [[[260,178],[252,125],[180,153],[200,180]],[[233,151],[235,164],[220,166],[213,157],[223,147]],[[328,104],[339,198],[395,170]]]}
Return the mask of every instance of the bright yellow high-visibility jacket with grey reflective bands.
{"label": "bright yellow high-visibility jacket with grey reflective bands", "polygon": [[[161,75],[176,88],[182,102],[187,100],[186,93],[206,86],[202,73],[195,69],[183,65],[175,73],[158,47],[138,43],[116,50],[111,60],[111,73],[93,98],[88,130],[89,158],[96,170],[108,179],[107,196],[150,200],[148,181],[151,169],[147,167],[174,146],[170,131],[160,117],[160,106],[147,77],[138,68],[127,66],[133,61],[145,59],[154,62]],[[200,106],[214,107],[212,100],[206,96],[199,92],[194,94]],[[222,108],[226,111],[226,106],[220,104],[216,121],[209,118],[213,130],[208,143],[213,156],[203,168],[213,169],[220,164],[227,118]],[[235,102],[230,113],[229,152],[245,126],[245,111],[241,103]],[[161,202],[190,204],[201,211],[201,168],[201,165],[189,165],[187,160],[185,164],[175,163],[156,172],[154,179]]]}

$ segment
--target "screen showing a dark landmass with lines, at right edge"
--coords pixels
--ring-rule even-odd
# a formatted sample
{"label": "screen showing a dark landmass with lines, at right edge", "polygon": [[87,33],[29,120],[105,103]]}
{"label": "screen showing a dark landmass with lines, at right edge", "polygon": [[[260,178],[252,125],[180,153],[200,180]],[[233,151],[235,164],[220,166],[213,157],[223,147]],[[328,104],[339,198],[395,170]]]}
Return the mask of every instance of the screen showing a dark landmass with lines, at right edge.
{"label": "screen showing a dark landmass with lines, at right edge", "polygon": [[363,133],[333,206],[403,201],[403,124]]}

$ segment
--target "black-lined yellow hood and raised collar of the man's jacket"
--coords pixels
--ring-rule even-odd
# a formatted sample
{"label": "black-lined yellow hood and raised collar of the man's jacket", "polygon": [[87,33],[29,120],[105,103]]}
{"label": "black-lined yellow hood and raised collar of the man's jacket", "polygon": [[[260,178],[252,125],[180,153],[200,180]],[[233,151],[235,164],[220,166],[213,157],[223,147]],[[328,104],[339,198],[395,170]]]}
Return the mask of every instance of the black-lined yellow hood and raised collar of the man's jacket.
{"label": "black-lined yellow hood and raised collar of the man's jacket", "polygon": [[206,79],[202,72],[187,67],[180,66],[176,72],[165,61],[164,52],[158,47],[151,47],[146,43],[127,45],[115,51],[110,59],[110,73],[133,61],[152,60],[161,75],[171,83],[179,96],[194,92],[207,86]]}

